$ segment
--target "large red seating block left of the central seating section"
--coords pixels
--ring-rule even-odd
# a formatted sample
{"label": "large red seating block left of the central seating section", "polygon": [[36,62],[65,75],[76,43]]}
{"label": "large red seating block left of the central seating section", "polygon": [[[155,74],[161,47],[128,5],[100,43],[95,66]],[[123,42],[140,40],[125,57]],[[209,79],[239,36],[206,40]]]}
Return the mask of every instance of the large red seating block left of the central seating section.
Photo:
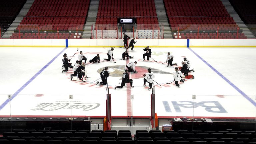
{"label": "large red seating block left of the central seating section", "polygon": [[16,29],[22,33],[11,38],[81,38],[89,4],[90,0],[35,0]]}

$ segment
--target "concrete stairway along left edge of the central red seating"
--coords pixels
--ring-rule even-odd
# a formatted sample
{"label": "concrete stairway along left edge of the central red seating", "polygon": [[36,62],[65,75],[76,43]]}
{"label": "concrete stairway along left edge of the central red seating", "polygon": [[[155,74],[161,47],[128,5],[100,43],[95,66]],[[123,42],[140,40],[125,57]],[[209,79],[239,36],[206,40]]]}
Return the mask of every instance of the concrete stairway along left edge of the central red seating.
{"label": "concrete stairway along left edge of the central red seating", "polygon": [[86,23],[84,25],[84,32],[82,39],[90,39],[91,38],[91,28],[92,24],[95,24],[96,17],[98,13],[99,0],[91,0],[90,7],[88,10],[88,16],[86,19]]}

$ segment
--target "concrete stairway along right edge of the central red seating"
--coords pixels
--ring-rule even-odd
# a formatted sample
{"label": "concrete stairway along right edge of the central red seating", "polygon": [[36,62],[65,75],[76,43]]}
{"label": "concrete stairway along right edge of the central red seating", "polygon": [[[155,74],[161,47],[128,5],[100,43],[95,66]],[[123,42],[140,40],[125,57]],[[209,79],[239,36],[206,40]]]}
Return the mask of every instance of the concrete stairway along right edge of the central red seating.
{"label": "concrete stairway along right edge of the central red seating", "polygon": [[159,25],[163,25],[164,27],[164,38],[165,39],[172,39],[172,32],[170,25],[168,23],[164,2],[163,0],[154,0],[155,1],[155,7],[156,7],[156,14],[158,18]]}

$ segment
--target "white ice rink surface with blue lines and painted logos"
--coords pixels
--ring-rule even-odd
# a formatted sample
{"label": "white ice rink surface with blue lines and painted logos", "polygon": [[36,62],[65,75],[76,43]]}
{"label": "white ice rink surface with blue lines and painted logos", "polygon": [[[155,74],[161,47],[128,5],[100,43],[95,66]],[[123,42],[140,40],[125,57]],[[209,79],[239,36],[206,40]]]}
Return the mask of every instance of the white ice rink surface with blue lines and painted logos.
{"label": "white ice rink surface with blue lines and painted logos", "polygon": [[[106,86],[95,85],[99,72],[107,66],[110,72],[108,86],[112,99],[112,116],[150,116],[148,83],[143,86],[143,74],[148,68],[155,73],[156,113],[167,117],[255,117],[256,67],[255,48],[154,48],[152,58],[143,61],[143,48],[129,49],[133,59],[122,59],[124,48],[114,47],[116,63],[104,61],[104,48],[0,48],[0,115],[16,116],[104,116],[106,114]],[[74,53],[78,52],[74,55]],[[63,54],[67,53],[72,65],[79,51],[87,58],[86,82],[70,81],[73,72],[61,72]],[[180,88],[166,84],[173,80],[176,66],[167,67],[167,52],[174,55],[173,63],[186,57],[195,72],[195,79],[185,79]],[[89,60],[100,54],[100,63]],[[121,83],[127,63],[137,61],[137,74],[130,73],[134,88],[114,90]],[[95,81],[95,82],[93,82]],[[99,80],[100,81],[100,80]],[[93,83],[92,83],[93,82]],[[8,99],[7,95],[12,97]],[[69,99],[73,95],[73,99]],[[131,95],[133,98],[131,98]],[[196,95],[196,99],[192,99]]]}

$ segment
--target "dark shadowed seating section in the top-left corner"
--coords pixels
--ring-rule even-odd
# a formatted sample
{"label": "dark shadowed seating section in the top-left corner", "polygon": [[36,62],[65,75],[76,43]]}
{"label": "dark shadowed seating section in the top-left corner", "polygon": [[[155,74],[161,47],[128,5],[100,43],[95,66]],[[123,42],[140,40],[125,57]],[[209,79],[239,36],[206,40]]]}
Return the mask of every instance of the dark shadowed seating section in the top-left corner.
{"label": "dark shadowed seating section in the top-left corner", "polygon": [[8,0],[0,2],[0,28],[4,33],[19,14],[26,0]]}

